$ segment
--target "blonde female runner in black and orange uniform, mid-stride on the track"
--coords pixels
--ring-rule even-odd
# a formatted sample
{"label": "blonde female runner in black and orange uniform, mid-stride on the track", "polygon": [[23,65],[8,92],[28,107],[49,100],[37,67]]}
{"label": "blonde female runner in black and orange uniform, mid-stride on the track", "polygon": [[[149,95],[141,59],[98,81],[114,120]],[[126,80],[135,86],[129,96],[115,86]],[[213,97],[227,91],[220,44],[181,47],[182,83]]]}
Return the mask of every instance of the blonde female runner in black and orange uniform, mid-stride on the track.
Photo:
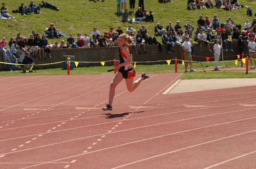
{"label": "blonde female runner in black and orange uniform, mid-stride on the track", "polygon": [[112,102],[115,96],[115,88],[123,79],[125,79],[127,90],[129,92],[132,92],[140,85],[143,80],[149,78],[148,75],[142,74],[140,79],[133,82],[133,79],[135,77],[135,70],[132,67],[132,56],[130,48],[128,45],[126,45],[126,43],[132,44],[133,41],[129,35],[123,33],[118,38],[118,54],[120,57],[120,61],[115,67],[115,70],[117,72],[113,77],[112,82],[110,83],[108,104],[106,104],[106,107],[103,107],[102,110],[112,110]]}

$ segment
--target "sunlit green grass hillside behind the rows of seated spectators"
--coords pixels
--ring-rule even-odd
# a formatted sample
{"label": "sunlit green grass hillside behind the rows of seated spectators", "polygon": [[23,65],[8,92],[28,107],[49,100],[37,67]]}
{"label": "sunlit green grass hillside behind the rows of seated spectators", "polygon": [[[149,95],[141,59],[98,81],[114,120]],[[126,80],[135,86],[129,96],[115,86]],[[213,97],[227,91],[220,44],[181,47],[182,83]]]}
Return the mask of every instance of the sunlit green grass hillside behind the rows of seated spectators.
{"label": "sunlit green grass hillside behind the rows of seated spectators", "polygon": [[[214,0],[213,0],[214,1]],[[41,14],[34,15],[24,15],[21,16],[20,13],[12,13],[12,10],[18,9],[20,3],[23,2],[24,6],[30,4],[30,0],[16,1],[16,0],[6,0],[6,7],[9,9],[9,14],[13,15],[15,18],[11,21],[0,20],[1,22],[1,39],[2,37],[7,38],[7,41],[11,37],[15,38],[18,32],[21,33],[21,36],[26,38],[29,37],[29,34],[32,30],[36,30],[36,33],[40,33],[45,30],[50,23],[54,23],[56,28],[64,32],[66,35],[72,33],[74,37],[78,32],[81,32],[82,35],[84,32],[87,32],[91,35],[93,27],[97,27],[100,33],[108,31],[110,27],[117,28],[117,25],[121,25],[122,30],[124,31],[127,28],[129,23],[123,23],[122,15],[116,14],[116,0],[105,0],[105,2],[97,1],[94,3],[92,0],[57,0],[48,2],[54,4],[60,11],[54,11],[48,8],[42,8]],[[39,4],[41,1],[34,1],[34,4]],[[172,25],[176,24],[176,21],[180,21],[180,25],[186,23],[192,24],[194,27],[197,25],[197,20],[199,15],[203,15],[204,18],[206,15],[210,19],[213,18],[214,14],[218,15],[220,22],[223,23],[225,20],[231,16],[232,20],[235,21],[235,24],[242,25],[246,19],[249,19],[249,22],[252,23],[254,17],[248,17],[246,15],[246,8],[236,9],[234,11],[225,11],[223,9],[214,8],[214,9],[197,9],[190,11],[187,9],[187,0],[173,0],[173,3],[159,3],[157,0],[144,0],[145,9],[152,10],[154,12],[155,22],[141,22],[140,24],[132,23],[132,28],[138,31],[141,28],[141,25],[145,25],[148,30],[149,36],[154,36],[154,27],[156,23],[160,23],[164,27],[168,25],[171,21]],[[256,13],[256,1],[255,0],[239,0],[240,4],[251,6],[254,13]],[[138,7],[138,0],[136,1],[135,10]],[[126,4],[126,8],[129,10],[129,0]],[[130,19],[135,18],[135,13],[131,13],[129,16]],[[91,38],[91,36],[89,36]],[[62,38],[66,41],[67,38]],[[62,40],[61,39],[61,40]],[[160,40],[160,37],[157,37]],[[60,39],[48,39],[49,42],[53,43],[55,41],[60,41]]]}

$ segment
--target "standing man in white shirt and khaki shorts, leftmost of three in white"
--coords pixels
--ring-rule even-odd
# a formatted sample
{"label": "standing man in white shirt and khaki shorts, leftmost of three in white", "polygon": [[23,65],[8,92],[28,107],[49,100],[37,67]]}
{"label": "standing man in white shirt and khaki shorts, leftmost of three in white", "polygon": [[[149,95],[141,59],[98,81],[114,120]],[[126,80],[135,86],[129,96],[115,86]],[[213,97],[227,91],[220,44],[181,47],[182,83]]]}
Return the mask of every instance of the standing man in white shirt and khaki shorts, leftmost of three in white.
{"label": "standing man in white shirt and khaki shorts, leftmost of three in white", "polygon": [[191,44],[189,42],[189,36],[185,37],[185,42],[182,44],[181,47],[184,50],[185,73],[188,72],[188,69],[187,69],[188,61],[189,61],[189,66],[190,66],[190,72],[195,72],[196,70],[192,69]]}

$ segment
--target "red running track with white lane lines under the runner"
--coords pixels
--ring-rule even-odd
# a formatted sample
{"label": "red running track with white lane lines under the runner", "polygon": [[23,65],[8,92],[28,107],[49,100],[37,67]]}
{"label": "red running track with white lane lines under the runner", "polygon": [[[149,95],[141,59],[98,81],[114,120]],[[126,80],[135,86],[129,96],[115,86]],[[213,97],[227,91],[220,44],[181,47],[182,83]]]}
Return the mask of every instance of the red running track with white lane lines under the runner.
{"label": "red running track with white lane lines under the runner", "polygon": [[1,77],[0,168],[256,168],[255,86],[163,95],[181,75],[122,81],[112,111],[112,74]]}

